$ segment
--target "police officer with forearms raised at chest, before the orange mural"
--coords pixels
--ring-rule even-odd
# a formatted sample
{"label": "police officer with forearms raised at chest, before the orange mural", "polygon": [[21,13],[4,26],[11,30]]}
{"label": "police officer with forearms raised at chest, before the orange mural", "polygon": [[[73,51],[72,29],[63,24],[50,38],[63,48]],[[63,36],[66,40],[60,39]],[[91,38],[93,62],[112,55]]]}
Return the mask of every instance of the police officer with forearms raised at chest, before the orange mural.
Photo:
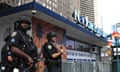
{"label": "police officer with forearms raised at chest, before the orange mural", "polygon": [[48,72],[61,72],[61,54],[63,50],[58,50],[56,46],[56,33],[48,33],[47,39],[48,42],[43,46],[43,56]]}

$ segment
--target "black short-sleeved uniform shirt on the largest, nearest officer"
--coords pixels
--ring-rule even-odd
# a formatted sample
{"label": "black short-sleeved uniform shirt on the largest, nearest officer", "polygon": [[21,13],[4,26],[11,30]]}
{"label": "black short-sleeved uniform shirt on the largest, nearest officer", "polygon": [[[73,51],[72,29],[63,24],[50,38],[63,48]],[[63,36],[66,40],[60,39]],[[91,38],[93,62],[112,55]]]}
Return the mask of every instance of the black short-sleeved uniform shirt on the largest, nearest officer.
{"label": "black short-sleeved uniform shirt on the largest, nearest officer", "polygon": [[16,46],[31,57],[37,56],[37,48],[32,38],[22,31],[15,31],[11,35],[10,46]]}

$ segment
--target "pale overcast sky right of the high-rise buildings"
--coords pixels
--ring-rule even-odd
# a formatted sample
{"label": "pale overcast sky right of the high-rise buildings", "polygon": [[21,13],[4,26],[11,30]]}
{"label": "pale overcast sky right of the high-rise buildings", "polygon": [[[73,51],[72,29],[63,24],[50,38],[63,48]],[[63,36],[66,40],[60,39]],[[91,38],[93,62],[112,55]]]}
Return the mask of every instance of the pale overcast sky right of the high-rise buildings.
{"label": "pale overcast sky right of the high-rise buildings", "polygon": [[101,0],[103,30],[111,33],[111,25],[120,22],[120,0]]}

